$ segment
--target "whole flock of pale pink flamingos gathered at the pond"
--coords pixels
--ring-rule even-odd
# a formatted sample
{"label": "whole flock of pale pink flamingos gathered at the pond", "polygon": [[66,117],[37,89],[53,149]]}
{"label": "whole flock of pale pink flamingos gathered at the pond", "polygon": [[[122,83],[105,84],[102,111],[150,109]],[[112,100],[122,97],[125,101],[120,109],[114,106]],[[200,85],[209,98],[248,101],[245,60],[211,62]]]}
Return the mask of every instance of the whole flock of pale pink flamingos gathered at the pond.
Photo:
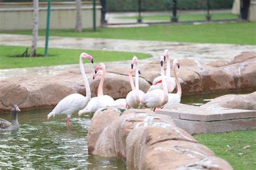
{"label": "whole flock of pale pink flamingos gathered at the pond", "polygon": [[[138,58],[134,56],[131,62],[131,68],[129,70],[129,80],[131,85],[131,91],[127,94],[125,99],[114,100],[111,96],[103,94],[103,83],[105,77],[105,64],[99,63],[95,67],[95,74],[93,74],[93,79],[97,76],[101,76],[97,97],[91,98],[91,90],[89,82],[86,78],[83,59],[89,59],[93,63],[92,56],[87,53],[81,53],[79,57],[80,71],[83,76],[84,85],[86,89],[86,96],[82,94],[74,93],[66,96],[56,105],[55,108],[48,114],[48,119],[50,117],[55,117],[58,114],[65,114],[67,116],[66,125],[69,127],[69,121],[73,113],[82,115],[84,113],[96,112],[99,108],[105,106],[122,106],[126,108],[150,108],[153,111],[156,108],[162,108],[167,104],[180,103],[181,98],[181,86],[176,73],[176,66],[179,68],[179,63],[177,59],[173,60],[173,75],[174,78],[170,76],[170,56],[169,51],[164,51],[164,56],[160,57],[160,73],[161,76],[156,77],[153,80],[150,89],[144,93],[139,90],[139,66]],[[166,61],[166,75],[164,74],[164,62]],[[133,83],[132,73],[135,72],[135,86]],[[177,86],[177,93],[171,93]]]}

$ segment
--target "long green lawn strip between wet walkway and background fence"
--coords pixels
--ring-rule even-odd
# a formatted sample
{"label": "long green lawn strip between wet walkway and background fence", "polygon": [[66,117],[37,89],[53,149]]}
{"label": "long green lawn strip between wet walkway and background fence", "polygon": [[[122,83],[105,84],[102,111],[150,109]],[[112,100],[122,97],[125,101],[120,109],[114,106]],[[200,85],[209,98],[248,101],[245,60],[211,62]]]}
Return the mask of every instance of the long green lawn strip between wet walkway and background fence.
{"label": "long green lawn strip between wet walkway and background fence", "polygon": [[[31,35],[31,30],[1,31]],[[45,30],[39,30],[44,36]],[[82,33],[69,30],[50,30],[50,36],[162,40],[167,42],[228,43],[256,45],[256,23],[151,25],[137,28],[85,29]]]}

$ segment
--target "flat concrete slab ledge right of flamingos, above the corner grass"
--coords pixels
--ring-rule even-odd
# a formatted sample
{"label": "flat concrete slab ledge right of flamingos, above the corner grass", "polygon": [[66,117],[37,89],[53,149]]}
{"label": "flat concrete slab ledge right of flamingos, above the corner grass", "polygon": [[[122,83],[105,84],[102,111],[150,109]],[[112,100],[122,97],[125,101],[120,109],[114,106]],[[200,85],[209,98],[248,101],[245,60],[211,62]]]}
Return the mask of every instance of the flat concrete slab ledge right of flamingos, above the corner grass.
{"label": "flat concrete slab ledge right of flamingos, above the corner grass", "polygon": [[169,115],[189,133],[232,132],[256,128],[256,111],[174,104],[156,111]]}

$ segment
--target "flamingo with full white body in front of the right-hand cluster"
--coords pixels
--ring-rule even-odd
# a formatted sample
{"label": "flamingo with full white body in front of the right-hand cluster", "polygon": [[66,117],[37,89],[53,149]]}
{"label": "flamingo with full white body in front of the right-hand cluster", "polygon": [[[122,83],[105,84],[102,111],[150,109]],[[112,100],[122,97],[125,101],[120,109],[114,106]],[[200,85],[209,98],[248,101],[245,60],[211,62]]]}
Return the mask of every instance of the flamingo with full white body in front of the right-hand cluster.
{"label": "flamingo with full white body in front of the right-hand cluster", "polygon": [[167,85],[166,85],[166,81],[164,78],[164,57],[161,56],[160,57],[160,65],[161,65],[161,77],[162,77],[162,81],[163,81],[163,89],[155,89],[155,90],[151,90],[149,92],[147,92],[143,99],[142,99],[142,104],[143,104],[143,108],[145,107],[150,107],[153,108],[153,111],[156,110],[156,107],[161,107],[163,105],[165,105],[168,101],[168,90],[167,90]]}

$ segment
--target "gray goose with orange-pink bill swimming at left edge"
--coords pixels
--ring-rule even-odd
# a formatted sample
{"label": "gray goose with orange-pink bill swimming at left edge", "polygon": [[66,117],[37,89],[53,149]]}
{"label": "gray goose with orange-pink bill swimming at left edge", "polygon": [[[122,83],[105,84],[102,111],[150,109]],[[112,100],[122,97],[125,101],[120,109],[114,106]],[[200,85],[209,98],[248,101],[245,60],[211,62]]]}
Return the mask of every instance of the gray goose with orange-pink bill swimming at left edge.
{"label": "gray goose with orange-pink bill swimming at left edge", "polygon": [[7,120],[0,118],[0,131],[16,131],[19,129],[17,111],[21,111],[19,110],[18,106],[17,105],[12,106],[11,123]]}

